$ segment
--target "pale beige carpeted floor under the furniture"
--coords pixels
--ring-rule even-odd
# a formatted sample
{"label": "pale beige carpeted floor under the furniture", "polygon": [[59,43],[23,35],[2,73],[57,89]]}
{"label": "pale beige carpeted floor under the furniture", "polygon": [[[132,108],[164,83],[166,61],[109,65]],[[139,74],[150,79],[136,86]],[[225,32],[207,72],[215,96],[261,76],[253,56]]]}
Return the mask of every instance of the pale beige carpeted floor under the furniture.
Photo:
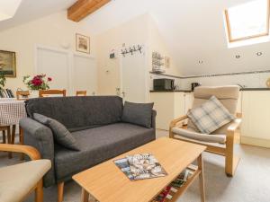
{"label": "pale beige carpeted floor under the furniture", "polygon": [[[157,136],[166,136],[157,131]],[[270,202],[270,149],[238,145],[241,156],[238,170],[233,178],[224,173],[224,158],[214,154],[203,154],[204,177],[207,202]],[[18,156],[8,160],[0,153],[0,167],[20,162]],[[70,181],[65,185],[65,202],[79,202],[80,188]],[[26,200],[34,201],[33,196]],[[44,201],[57,201],[57,187],[44,189]],[[199,185],[195,181],[177,202],[199,202]],[[112,201],[117,202],[117,201]],[[127,201],[128,202],[128,201]]]}

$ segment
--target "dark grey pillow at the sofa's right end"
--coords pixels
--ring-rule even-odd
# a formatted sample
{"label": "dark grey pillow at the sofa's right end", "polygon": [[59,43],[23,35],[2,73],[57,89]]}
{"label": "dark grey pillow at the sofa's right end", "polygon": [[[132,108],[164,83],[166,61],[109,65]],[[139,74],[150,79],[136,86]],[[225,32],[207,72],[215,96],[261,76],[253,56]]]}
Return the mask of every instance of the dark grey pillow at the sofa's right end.
{"label": "dark grey pillow at the sofa's right end", "polygon": [[153,106],[154,103],[132,103],[125,101],[121,121],[150,128],[152,125]]}

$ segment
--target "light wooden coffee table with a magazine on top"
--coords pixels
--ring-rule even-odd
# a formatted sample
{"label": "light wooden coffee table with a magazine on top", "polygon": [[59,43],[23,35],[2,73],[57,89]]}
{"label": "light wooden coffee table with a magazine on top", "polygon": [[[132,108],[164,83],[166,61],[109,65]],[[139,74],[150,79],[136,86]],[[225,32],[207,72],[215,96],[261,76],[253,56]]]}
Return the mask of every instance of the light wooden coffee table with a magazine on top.
{"label": "light wooden coffee table with a magazine on top", "polygon": [[[202,145],[162,137],[82,171],[74,175],[73,179],[82,187],[82,202],[88,202],[89,193],[100,202],[148,202],[153,201],[185,168],[197,160],[198,169],[181,188],[177,189],[177,192],[173,193],[173,198],[166,201],[176,201],[199,177],[201,200],[204,202],[202,152],[205,149],[206,147]],[[130,181],[113,162],[128,154],[143,153],[154,154],[168,175],[155,179]]]}

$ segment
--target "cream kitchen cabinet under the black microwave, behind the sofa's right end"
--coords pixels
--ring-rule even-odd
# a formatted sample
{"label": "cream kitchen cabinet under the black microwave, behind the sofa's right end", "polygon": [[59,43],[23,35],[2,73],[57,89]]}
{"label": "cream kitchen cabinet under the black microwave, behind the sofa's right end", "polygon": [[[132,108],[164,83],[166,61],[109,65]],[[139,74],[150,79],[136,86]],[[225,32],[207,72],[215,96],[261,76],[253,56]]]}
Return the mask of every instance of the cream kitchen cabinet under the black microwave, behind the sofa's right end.
{"label": "cream kitchen cabinet under the black microwave, behind the sofa's right end", "polygon": [[150,101],[157,110],[157,129],[168,130],[173,119],[184,116],[193,103],[192,92],[151,92]]}

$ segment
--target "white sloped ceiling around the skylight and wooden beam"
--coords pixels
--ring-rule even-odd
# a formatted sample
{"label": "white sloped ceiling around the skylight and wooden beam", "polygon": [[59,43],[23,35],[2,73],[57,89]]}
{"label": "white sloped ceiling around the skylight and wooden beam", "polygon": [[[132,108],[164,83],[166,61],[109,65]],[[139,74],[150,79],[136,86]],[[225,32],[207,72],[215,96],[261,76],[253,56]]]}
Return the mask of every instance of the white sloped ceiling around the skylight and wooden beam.
{"label": "white sloped ceiling around the skylight and wooden beam", "polygon": [[[112,0],[82,21],[94,34],[101,33],[143,13],[150,13],[166,40],[182,75],[270,69],[270,43],[228,48],[223,11],[250,0]],[[13,20],[4,28],[67,9],[75,0],[23,0]],[[263,52],[257,57],[257,52]],[[240,58],[236,58],[240,55]],[[200,65],[199,60],[203,63]]]}

